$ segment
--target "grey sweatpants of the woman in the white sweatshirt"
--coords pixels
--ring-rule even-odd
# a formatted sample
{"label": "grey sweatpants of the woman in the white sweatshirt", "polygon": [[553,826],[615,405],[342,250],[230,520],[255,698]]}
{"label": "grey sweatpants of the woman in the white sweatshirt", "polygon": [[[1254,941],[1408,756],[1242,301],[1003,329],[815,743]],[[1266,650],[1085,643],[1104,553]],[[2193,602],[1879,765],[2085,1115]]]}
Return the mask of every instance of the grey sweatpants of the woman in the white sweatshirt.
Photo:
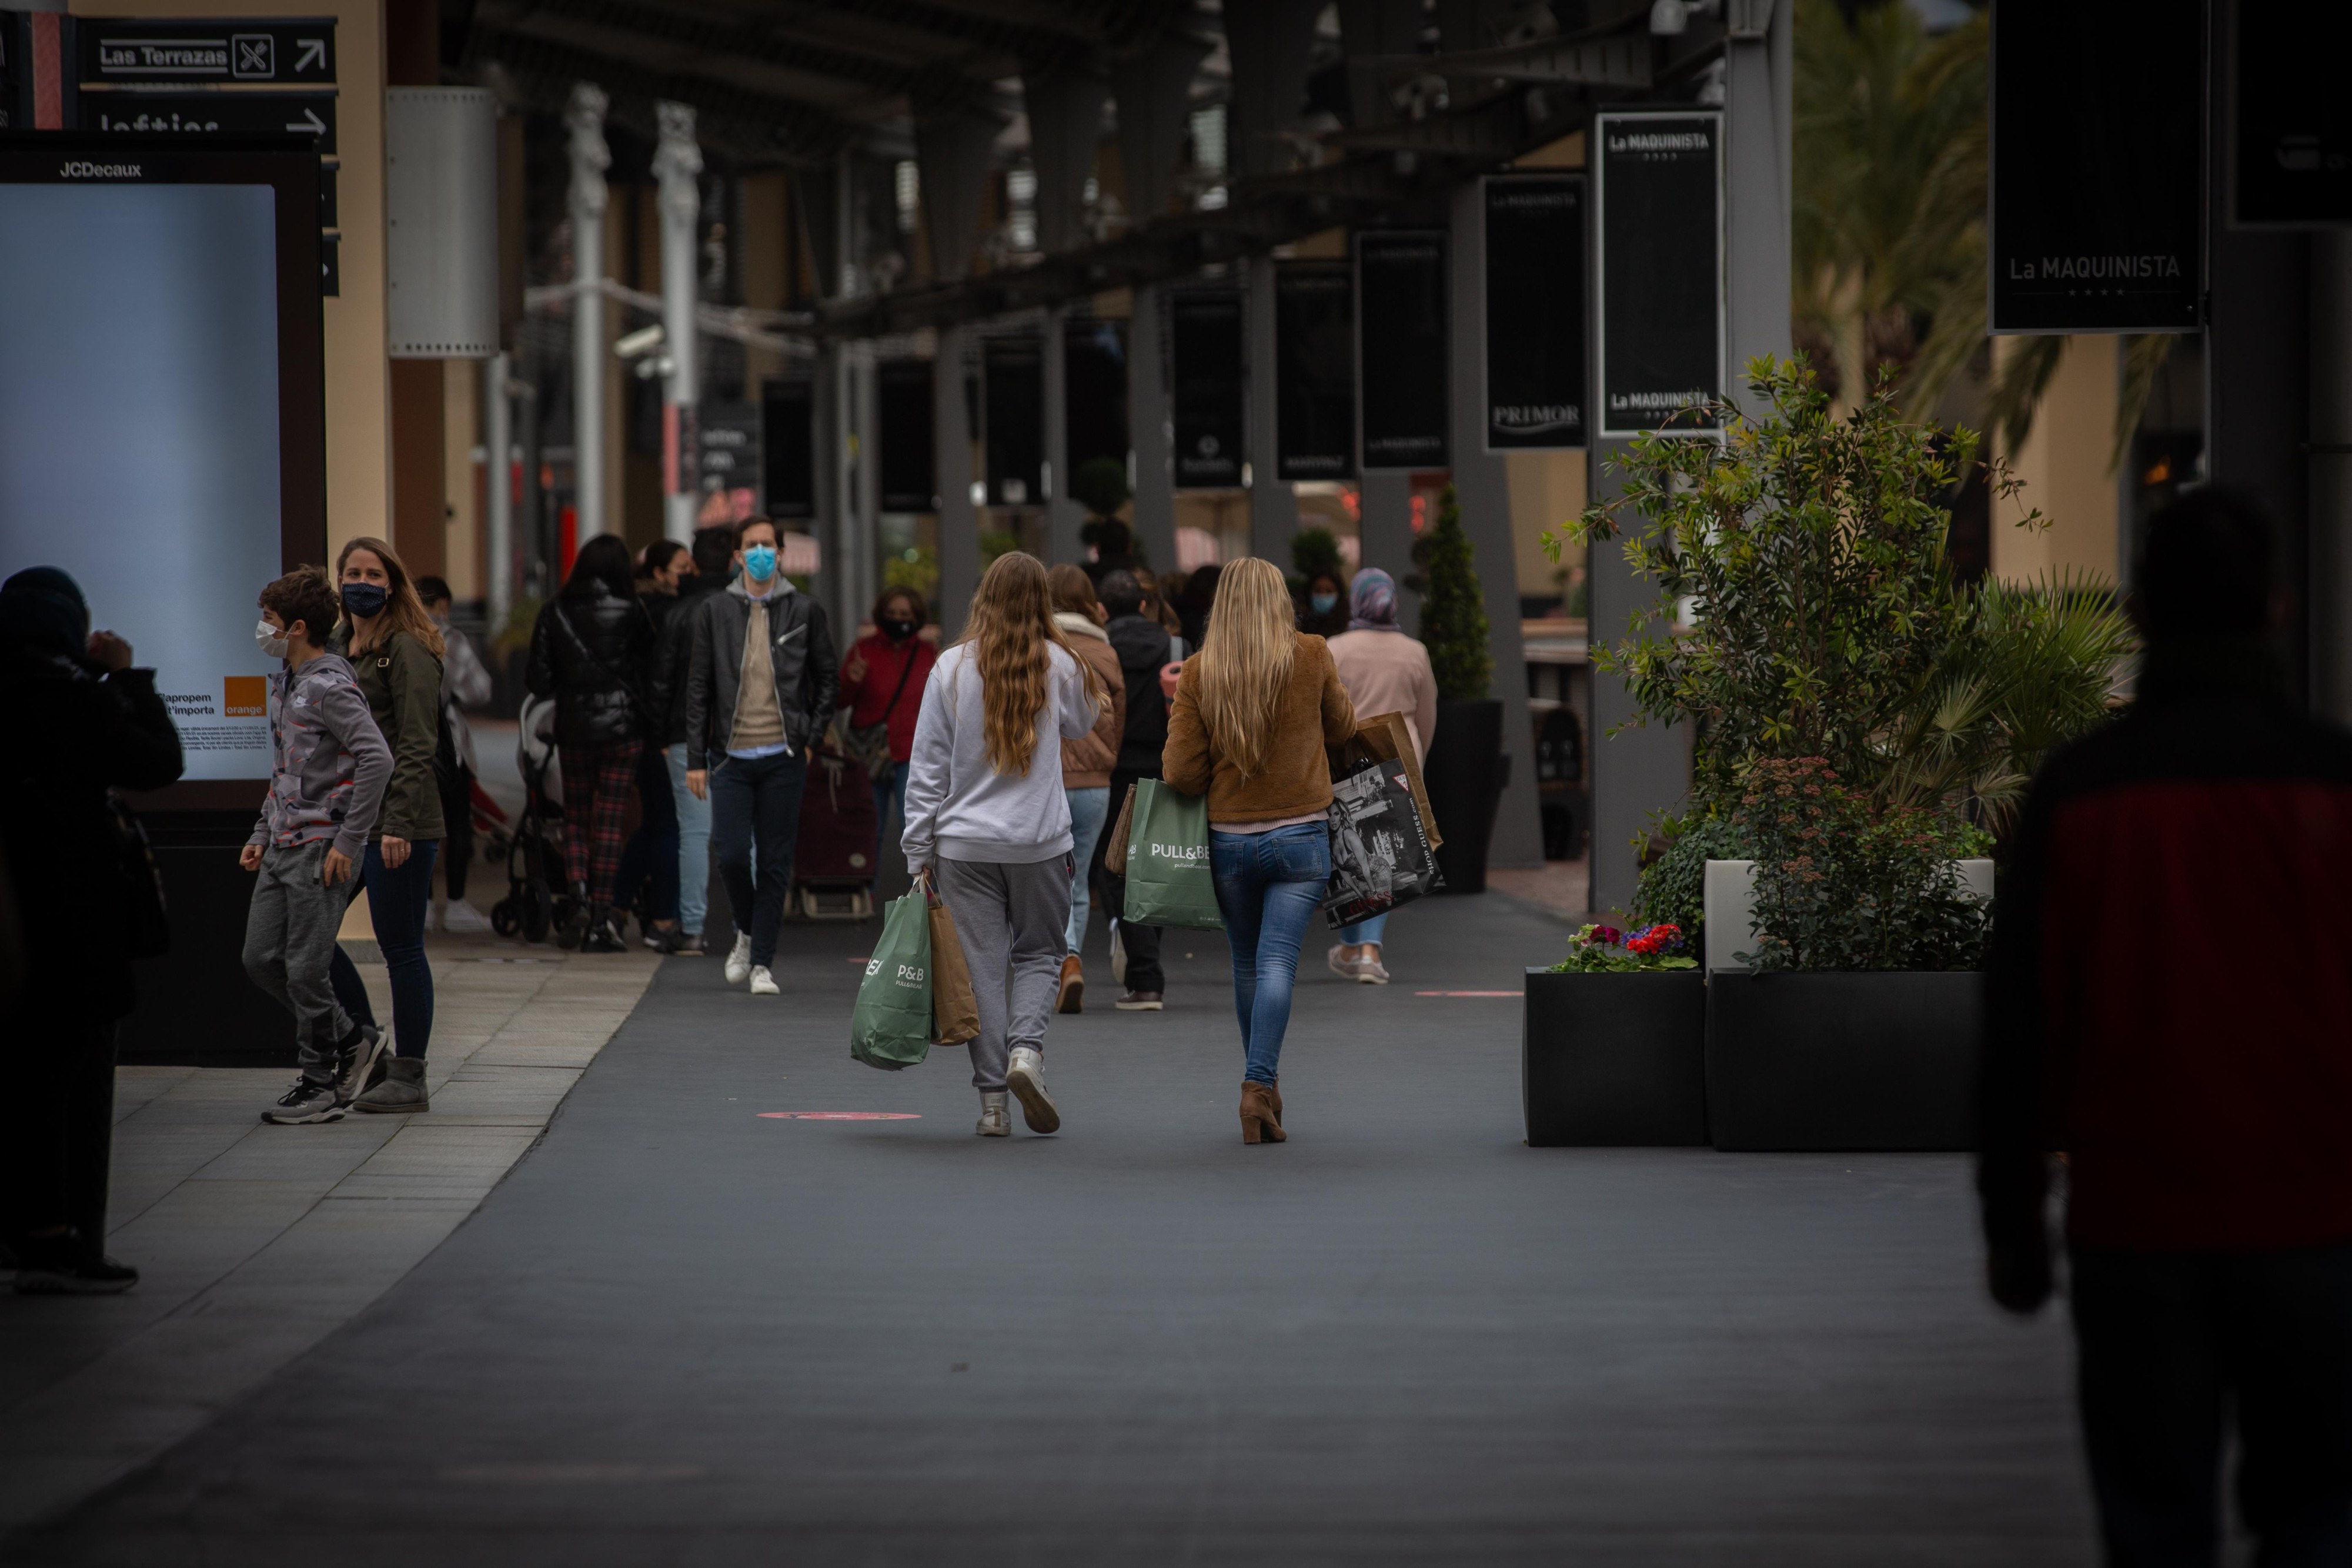
{"label": "grey sweatpants of the woman in the white sweatshirt", "polygon": [[1030,865],[938,860],[938,898],[964,940],[971,999],[981,1032],[971,1041],[971,1084],[1004,1088],[1014,1046],[1044,1051],[1044,1020],[1054,1016],[1063,929],[1070,924],[1070,856]]}

